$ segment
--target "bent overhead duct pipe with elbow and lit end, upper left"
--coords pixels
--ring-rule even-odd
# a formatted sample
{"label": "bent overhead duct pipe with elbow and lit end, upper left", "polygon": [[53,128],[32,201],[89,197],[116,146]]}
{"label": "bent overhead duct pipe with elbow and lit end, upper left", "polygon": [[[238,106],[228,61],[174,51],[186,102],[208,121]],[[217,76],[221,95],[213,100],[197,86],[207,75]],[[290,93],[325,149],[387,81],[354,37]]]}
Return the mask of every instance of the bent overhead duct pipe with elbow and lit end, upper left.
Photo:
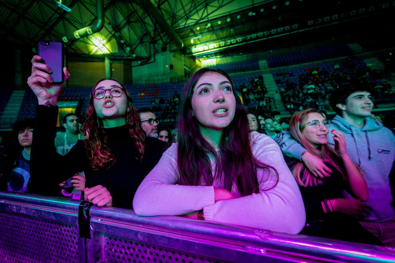
{"label": "bent overhead duct pipe with elbow and lit end, upper left", "polygon": [[81,28],[79,30],[74,31],[64,37],[58,39],[57,41],[62,41],[63,43],[68,43],[70,41],[80,39],[81,37],[86,37],[87,35],[92,35],[96,32],[99,32],[103,28],[104,24],[104,10],[103,10],[103,0],[96,1],[96,21],[93,22],[92,25],[87,26],[85,28]]}

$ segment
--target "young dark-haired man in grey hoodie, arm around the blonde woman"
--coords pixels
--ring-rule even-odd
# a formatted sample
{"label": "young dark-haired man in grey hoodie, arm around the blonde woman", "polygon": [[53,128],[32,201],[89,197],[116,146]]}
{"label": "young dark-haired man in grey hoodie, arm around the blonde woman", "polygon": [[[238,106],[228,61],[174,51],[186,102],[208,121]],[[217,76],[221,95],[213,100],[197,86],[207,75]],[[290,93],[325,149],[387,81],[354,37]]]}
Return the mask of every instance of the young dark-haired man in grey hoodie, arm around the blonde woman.
{"label": "young dark-haired man in grey hoodie, arm around the blonde woman", "polygon": [[[395,212],[389,184],[395,161],[395,136],[369,118],[373,107],[371,94],[370,87],[359,83],[345,84],[334,90],[329,102],[337,115],[328,128],[344,134],[348,154],[365,176],[369,189],[366,204],[372,210],[361,222],[362,226],[386,246],[395,247]],[[329,132],[328,142],[334,144],[332,136]],[[302,160],[315,176],[330,176],[331,169],[296,142],[290,132],[279,133],[275,141],[285,155]]]}

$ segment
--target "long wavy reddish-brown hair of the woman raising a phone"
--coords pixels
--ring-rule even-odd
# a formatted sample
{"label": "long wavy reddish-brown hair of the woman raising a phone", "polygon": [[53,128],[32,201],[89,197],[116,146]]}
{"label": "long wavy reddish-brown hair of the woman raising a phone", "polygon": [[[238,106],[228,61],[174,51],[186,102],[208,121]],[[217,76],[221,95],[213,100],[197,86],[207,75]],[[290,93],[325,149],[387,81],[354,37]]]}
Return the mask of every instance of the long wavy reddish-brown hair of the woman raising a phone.
{"label": "long wavy reddish-brown hair of the woman raising a phone", "polygon": [[[136,156],[136,159],[143,159],[144,155],[144,140],[145,140],[145,132],[141,128],[140,125],[140,117],[135,109],[132,101],[132,97],[130,97],[129,92],[126,90],[125,86],[120,83],[118,80],[113,78],[102,78],[99,80],[94,86],[92,90],[95,90],[99,82],[103,80],[113,80],[120,84],[120,86],[124,89],[126,94],[126,98],[128,101],[129,111],[126,112],[125,121],[127,120],[127,116],[129,117],[129,122],[127,125],[129,126],[129,134],[135,140],[135,146],[139,151],[139,156]],[[111,150],[109,149],[107,142],[107,134],[104,131],[103,120],[100,119],[96,110],[93,106],[93,96],[90,94],[89,97],[89,106],[87,112],[85,113],[86,121],[82,127],[82,131],[85,136],[85,148],[87,149],[89,163],[93,170],[98,169],[107,169],[115,163],[115,157]],[[98,122],[99,121],[99,125]]]}

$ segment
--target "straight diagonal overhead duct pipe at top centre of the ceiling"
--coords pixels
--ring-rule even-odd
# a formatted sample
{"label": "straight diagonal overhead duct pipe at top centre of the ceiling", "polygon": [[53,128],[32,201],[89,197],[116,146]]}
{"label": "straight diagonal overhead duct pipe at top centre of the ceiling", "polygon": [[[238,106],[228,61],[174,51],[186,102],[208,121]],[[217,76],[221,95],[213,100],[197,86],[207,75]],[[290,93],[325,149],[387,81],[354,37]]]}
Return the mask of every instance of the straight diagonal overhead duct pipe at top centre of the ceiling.
{"label": "straight diagonal overhead duct pipe at top centre of the ceiling", "polygon": [[158,25],[166,32],[169,38],[173,41],[173,45],[170,45],[170,52],[176,52],[184,47],[181,37],[171,28],[166,19],[159,13],[158,9],[151,3],[150,0],[138,0],[148,13],[158,22]]}

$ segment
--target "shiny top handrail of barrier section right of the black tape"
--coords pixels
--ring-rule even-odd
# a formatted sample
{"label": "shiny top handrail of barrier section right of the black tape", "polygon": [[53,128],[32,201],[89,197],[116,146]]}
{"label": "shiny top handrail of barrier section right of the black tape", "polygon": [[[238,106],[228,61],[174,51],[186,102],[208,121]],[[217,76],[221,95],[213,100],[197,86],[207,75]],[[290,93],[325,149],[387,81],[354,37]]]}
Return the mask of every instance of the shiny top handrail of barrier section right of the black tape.
{"label": "shiny top handrail of barrier section right of the black tape", "polygon": [[[122,213],[119,213],[122,210]],[[280,232],[254,229],[244,226],[225,225],[215,222],[194,220],[180,216],[137,216],[134,211],[115,207],[93,206],[91,221],[105,220],[108,224],[124,224],[144,229],[168,231],[180,235],[207,237],[220,242],[260,248],[269,252],[309,259],[342,262],[395,262],[395,249],[368,244],[292,235]]]}

